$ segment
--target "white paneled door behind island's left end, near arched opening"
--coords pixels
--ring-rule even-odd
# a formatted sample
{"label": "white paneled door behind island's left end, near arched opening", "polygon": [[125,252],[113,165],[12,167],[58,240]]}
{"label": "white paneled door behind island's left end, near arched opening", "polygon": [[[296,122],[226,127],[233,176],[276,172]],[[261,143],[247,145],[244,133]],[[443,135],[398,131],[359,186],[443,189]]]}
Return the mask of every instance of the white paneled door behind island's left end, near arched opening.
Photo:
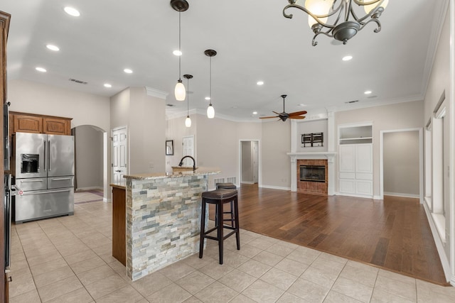
{"label": "white paneled door behind island's left end, near arched opening", "polygon": [[128,162],[127,128],[117,128],[112,131],[112,182],[123,181],[127,173]]}

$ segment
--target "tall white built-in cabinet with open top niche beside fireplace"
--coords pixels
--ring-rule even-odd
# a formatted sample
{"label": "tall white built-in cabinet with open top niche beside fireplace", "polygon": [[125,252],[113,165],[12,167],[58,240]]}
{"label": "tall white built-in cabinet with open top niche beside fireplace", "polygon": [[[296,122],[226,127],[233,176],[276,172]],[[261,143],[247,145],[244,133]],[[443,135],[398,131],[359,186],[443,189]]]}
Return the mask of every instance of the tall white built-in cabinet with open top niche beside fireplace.
{"label": "tall white built-in cabinet with open top niche beside fireplace", "polygon": [[340,194],[373,197],[372,141],[372,126],[339,128],[338,192]]}

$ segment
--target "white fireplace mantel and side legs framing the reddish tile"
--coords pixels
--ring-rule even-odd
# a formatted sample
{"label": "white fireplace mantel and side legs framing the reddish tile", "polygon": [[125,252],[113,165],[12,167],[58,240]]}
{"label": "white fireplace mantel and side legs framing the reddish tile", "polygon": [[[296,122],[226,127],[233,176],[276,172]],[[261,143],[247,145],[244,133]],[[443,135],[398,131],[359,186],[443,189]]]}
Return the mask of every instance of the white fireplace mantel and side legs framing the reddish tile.
{"label": "white fireplace mantel and side legs framing the reddish tile", "polygon": [[[312,152],[312,153],[287,153],[291,158],[291,191],[297,192],[297,182],[299,181],[300,161],[298,160],[327,160],[327,192],[329,196],[335,194],[335,156],[336,152]],[[306,192],[311,194],[311,192]]]}

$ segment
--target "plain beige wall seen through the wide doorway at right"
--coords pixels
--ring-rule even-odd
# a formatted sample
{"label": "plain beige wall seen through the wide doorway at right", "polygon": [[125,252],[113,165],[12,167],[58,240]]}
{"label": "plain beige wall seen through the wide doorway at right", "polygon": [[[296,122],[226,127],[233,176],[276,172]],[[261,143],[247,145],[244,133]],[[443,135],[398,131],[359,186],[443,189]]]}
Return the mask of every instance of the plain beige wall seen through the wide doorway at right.
{"label": "plain beige wall seen through the wide doorway at right", "polygon": [[384,194],[419,197],[419,132],[384,133]]}

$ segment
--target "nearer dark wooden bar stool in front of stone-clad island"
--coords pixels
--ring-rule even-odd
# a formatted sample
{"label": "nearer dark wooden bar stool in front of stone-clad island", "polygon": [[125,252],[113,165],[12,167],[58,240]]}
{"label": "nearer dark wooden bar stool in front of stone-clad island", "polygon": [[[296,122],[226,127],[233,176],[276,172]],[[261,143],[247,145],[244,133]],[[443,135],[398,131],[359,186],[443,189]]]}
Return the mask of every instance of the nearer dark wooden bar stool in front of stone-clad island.
{"label": "nearer dark wooden bar stool in front of stone-clad island", "polygon": [[[232,222],[232,226],[224,224],[223,219],[223,205],[226,203],[233,203],[233,212],[228,214],[233,215],[228,221]],[[215,227],[205,231],[205,212],[207,204],[215,204],[216,214],[218,219],[216,220]],[[230,229],[230,233],[224,235],[223,228]],[[217,236],[209,236],[212,231],[217,231]],[[199,258],[202,258],[204,251],[204,239],[208,238],[211,240],[218,241],[218,254],[220,255],[220,264],[223,264],[223,241],[226,238],[232,236],[235,233],[235,239],[237,241],[237,250],[240,250],[240,232],[239,232],[239,211],[237,203],[237,190],[235,189],[215,189],[210,192],[202,193],[202,211],[200,216],[200,239],[199,239]]]}

